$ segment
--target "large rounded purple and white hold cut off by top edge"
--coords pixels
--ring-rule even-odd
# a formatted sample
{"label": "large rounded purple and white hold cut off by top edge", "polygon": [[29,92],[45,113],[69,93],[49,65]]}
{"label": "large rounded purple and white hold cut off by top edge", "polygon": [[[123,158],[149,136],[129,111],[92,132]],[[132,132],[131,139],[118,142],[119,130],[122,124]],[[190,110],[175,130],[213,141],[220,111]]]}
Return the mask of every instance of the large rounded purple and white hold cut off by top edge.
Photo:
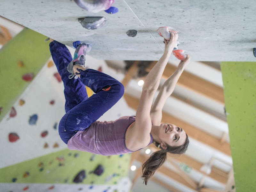
{"label": "large rounded purple and white hold cut off by top edge", "polygon": [[74,0],[76,4],[86,11],[97,13],[109,9],[114,0]]}

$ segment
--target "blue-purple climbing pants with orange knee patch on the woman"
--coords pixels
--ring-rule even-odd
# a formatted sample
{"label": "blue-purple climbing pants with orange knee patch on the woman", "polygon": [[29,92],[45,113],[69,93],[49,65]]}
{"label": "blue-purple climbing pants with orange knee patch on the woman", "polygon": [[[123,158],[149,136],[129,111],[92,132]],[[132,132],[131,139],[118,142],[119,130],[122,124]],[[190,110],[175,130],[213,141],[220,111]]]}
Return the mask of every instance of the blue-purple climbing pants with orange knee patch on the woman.
{"label": "blue-purple climbing pants with orange knee patch on the woman", "polygon": [[[107,74],[80,70],[80,79],[69,79],[67,66],[72,56],[64,44],[50,43],[52,59],[64,84],[66,114],[59,124],[60,138],[67,144],[77,131],[83,131],[108,111],[124,94],[124,86]],[[85,85],[95,93],[88,98]]]}

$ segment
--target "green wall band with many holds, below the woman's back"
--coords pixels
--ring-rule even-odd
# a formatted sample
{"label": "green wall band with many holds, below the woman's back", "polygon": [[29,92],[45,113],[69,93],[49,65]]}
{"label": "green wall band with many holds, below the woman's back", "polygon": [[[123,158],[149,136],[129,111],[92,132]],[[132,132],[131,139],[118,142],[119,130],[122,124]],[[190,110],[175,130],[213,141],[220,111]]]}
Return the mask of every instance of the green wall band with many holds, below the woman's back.
{"label": "green wall band with many holds, below the woman's back", "polygon": [[[130,154],[101,156],[87,152],[64,149],[19,164],[0,169],[0,183],[67,183],[74,184],[76,175],[85,170],[82,184],[116,184],[127,177]],[[99,166],[104,172],[98,176],[93,171]]]}

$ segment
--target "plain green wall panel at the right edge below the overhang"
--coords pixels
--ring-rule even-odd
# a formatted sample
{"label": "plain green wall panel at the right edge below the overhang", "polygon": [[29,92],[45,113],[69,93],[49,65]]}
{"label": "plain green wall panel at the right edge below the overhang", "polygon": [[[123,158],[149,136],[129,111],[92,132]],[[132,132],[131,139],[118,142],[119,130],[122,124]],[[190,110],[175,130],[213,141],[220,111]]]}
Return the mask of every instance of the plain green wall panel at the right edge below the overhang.
{"label": "plain green wall panel at the right edge below the overhang", "polygon": [[256,62],[221,62],[236,192],[256,191]]}

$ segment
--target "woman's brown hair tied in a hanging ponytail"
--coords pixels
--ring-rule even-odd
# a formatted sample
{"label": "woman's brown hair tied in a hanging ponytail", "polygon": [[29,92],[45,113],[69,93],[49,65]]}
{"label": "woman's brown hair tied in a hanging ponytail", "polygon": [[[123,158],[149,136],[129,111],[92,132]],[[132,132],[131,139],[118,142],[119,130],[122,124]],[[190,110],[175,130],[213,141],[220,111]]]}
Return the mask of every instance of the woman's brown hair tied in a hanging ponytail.
{"label": "woman's brown hair tied in a hanging ponytail", "polygon": [[[148,158],[148,160],[142,164],[142,178],[144,178],[145,185],[147,185],[149,178],[154,175],[156,170],[162,164],[164,164],[164,162],[167,158],[167,153],[183,154],[186,152],[186,150],[188,148],[188,143],[189,143],[189,140],[188,140],[188,135],[186,133],[186,140],[183,145],[178,146],[178,147],[172,147],[172,146],[167,145],[166,149],[161,148],[160,150],[152,153],[151,156]],[[155,142],[156,147],[158,147],[159,144],[160,143]]]}

